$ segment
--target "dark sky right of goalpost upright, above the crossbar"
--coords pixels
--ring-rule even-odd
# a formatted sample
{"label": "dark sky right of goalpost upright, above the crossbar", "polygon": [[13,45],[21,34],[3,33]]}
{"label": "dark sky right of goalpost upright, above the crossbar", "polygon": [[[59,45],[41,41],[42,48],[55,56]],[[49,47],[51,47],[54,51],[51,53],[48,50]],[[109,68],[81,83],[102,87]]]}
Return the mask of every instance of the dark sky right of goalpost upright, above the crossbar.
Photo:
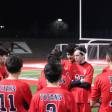
{"label": "dark sky right of goalpost upright, above the crossbar", "polygon": [[112,0],[82,1],[83,36],[112,39]]}

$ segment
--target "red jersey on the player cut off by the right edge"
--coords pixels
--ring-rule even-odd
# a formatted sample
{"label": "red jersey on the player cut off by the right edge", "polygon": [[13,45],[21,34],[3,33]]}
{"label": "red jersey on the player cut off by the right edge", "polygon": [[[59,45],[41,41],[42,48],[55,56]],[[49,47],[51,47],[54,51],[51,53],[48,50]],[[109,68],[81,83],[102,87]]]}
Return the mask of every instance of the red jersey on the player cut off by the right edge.
{"label": "red jersey on the player cut off by the right edge", "polygon": [[112,70],[98,75],[94,82],[91,99],[101,98],[99,112],[112,112]]}

